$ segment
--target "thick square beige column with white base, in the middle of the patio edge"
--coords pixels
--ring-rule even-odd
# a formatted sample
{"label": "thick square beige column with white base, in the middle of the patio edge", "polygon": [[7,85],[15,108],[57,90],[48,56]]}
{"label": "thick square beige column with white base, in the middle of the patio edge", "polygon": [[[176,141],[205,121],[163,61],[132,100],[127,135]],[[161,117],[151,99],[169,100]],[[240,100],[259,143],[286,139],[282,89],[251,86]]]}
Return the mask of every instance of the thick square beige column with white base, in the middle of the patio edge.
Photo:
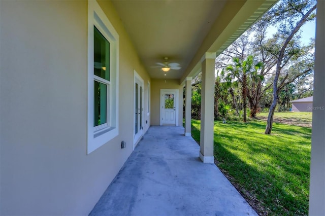
{"label": "thick square beige column with white base, in the middle of the patio edge", "polygon": [[202,57],[201,88],[201,138],[200,158],[204,163],[214,163],[214,65],[216,53],[205,53]]}

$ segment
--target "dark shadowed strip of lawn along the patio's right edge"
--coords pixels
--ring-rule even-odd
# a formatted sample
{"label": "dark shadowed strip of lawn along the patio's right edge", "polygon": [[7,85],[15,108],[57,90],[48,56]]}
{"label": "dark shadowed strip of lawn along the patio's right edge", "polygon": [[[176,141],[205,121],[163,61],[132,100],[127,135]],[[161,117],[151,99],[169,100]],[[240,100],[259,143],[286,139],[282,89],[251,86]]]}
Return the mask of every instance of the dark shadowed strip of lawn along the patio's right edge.
{"label": "dark shadowed strip of lawn along the patio's right edge", "polygon": [[[296,199],[295,194],[285,190],[285,185],[278,183],[277,179],[283,176],[275,171],[257,170],[216,143],[215,149],[218,151],[218,154],[215,153],[215,156],[218,155],[217,166],[226,175],[231,176],[232,184],[237,186],[237,190],[248,199],[259,214],[305,215],[308,213],[308,200],[304,202]],[[224,157],[220,157],[221,154]]]}

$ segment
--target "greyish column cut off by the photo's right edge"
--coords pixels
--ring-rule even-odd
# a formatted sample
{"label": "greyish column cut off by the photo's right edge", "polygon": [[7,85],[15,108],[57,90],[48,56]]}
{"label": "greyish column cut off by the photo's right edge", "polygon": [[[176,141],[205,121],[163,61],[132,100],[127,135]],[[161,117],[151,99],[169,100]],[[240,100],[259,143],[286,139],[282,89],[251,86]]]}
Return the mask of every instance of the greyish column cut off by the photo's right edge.
{"label": "greyish column cut off by the photo's right edge", "polygon": [[309,215],[325,215],[325,1],[317,1]]}

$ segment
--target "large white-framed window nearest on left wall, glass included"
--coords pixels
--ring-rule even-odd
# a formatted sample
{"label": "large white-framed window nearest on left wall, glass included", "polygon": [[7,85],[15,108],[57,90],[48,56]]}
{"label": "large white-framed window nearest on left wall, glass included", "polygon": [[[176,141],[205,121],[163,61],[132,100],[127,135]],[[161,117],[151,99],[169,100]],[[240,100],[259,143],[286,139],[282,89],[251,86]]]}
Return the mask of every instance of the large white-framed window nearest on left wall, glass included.
{"label": "large white-framed window nearest on left wall, glass included", "polygon": [[87,154],[118,135],[119,37],[96,1],[88,1]]}

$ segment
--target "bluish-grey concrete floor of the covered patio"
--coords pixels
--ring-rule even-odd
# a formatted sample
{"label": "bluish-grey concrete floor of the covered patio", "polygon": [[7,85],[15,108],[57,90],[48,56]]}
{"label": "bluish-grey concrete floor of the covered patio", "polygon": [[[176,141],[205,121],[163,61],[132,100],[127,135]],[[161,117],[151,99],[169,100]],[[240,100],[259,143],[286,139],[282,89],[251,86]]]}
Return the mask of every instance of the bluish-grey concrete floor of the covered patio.
{"label": "bluish-grey concrete floor of the covered patio", "polygon": [[183,133],[151,126],[89,215],[257,215]]}

